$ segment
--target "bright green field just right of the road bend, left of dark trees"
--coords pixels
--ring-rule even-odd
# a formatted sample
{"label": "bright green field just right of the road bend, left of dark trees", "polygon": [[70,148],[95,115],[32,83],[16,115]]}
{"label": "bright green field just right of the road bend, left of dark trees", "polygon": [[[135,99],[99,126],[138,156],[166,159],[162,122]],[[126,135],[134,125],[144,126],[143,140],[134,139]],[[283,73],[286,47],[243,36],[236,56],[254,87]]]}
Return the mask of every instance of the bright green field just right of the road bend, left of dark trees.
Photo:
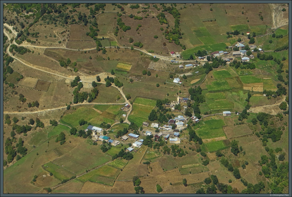
{"label": "bright green field just right of the road bend, left of dark trees", "polygon": [[[148,116],[152,109],[154,108],[154,102],[156,101],[146,98],[137,98],[138,103],[136,101],[133,103],[133,110],[131,114],[128,116],[128,120],[130,122],[135,122],[138,126],[142,125],[142,122],[148,120]],[[136,99],[136,100],[137,100]],[[140,104],[140,103],[144,104]],[[146,105],[145,105],[146,104]]]}

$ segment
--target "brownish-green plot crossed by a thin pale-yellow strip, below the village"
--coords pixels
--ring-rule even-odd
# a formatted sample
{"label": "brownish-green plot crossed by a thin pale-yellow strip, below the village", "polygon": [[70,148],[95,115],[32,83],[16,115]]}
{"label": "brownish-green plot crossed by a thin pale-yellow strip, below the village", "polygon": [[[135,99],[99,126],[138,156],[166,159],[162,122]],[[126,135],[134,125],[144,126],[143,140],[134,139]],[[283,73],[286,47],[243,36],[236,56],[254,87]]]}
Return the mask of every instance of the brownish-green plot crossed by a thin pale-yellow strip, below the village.
{"label": "brownish-green plot crossed by a thin pale-yellow strip, below the village", "polygon": [[[201,155],[187,155],[176,157],[175,162],[178,164],[180,174],[193,174],[209,171],[207,166],[201,164]],[[191,172],[191,173],[190,173]]]}

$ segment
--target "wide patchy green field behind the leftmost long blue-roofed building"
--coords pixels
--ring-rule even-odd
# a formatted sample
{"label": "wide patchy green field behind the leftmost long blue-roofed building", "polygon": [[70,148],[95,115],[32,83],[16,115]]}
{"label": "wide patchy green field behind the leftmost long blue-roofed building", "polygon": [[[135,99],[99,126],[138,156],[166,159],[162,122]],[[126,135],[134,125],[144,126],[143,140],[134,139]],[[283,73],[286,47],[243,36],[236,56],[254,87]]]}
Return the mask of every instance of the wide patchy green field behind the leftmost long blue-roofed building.
{"label": "wide patchy green field behind the leftmost long blue-roofed building", "polygon": [[91,122],[91,124],[99,125],[102,122],[113,124],[114,120],[109,119],[100,115],[92,108],[80,107],[76,111],[70,114],[66,114],[62,117],[62,121],[69,123],[70,125],[77,127],[79,126],[79,120],[84,119],[87,122]]}

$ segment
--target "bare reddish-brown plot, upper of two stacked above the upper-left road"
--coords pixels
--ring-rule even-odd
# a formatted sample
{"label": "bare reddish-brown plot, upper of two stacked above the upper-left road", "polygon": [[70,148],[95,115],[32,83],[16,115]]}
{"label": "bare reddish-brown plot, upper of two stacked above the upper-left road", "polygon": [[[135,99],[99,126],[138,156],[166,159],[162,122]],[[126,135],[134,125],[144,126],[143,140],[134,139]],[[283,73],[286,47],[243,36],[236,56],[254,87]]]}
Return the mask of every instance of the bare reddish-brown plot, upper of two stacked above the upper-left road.
{"label": "bare reddish-brown plot, upper of two stacked above the upper-left road", "polygon": [[69,41],[93,41],[90,36],[86,35],[86,32],[90,32],[89,27],[89,25],[71,25]]}

